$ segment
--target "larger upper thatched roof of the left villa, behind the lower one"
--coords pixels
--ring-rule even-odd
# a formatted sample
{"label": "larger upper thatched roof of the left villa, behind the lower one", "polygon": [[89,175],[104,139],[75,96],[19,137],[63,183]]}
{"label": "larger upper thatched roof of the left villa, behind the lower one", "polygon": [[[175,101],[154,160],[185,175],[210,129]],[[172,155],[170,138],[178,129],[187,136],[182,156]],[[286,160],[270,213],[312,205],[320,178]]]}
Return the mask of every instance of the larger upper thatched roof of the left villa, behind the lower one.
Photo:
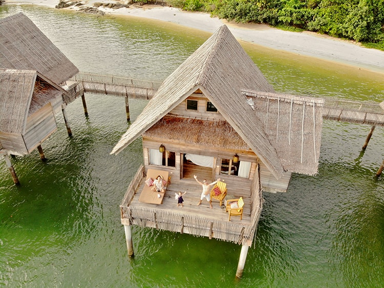
{"label": "larger upper thatched roof of the left villa, behind the lower one", "polygon": [[0,19],[0,68],[37,70],[60,85],[78,72],[23,13]]}

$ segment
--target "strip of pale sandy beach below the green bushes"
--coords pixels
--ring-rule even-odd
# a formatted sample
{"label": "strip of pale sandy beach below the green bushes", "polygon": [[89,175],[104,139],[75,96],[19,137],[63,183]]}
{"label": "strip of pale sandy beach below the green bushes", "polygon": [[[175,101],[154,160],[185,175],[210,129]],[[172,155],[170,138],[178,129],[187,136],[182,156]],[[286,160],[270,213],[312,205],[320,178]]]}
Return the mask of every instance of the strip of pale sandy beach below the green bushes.
{"label": "strip of pale sandy beach below the green bushes", "polygon": [[[96,2],[114,3],[111,0],[88,0],[83,2],[82,6],[71,6],[65,9],[79,10],[84,6],[94,7],[93,4]],[[54,8],[58,0],[6,0],[5,4],[34,4]],[[99,7],[98,9],[106,14],[156,19],[210,33],[214,33],[225,24],[235,37],[245,42],[384,73],[384,51],[364,48],[352,41],[327,35],[282,31],[263,24],[236,24],[211,17],[207,13],[186,12],[172,7],[145,5],[120,9]]]}

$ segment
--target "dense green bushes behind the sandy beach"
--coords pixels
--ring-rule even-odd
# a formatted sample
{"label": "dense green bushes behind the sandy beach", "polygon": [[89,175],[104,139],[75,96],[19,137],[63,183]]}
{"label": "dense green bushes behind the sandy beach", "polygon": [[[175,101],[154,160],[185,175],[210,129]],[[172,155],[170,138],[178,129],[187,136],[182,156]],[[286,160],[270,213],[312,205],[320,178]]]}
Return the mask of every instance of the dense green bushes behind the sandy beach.
{"label": "dense green bushes behind the sandy beach", "polygon": [[[384,0],[165,0],[240,23],[314,31],[384,50]],[[284,27],[284,28],[283,28]]]}

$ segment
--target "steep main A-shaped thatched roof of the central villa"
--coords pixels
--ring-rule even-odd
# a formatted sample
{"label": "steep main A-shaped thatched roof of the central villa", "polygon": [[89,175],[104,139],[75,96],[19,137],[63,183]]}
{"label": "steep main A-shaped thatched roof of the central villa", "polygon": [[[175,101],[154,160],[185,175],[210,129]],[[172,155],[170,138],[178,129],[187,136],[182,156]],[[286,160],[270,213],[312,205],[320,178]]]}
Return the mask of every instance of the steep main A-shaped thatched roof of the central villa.
{"label": "steep main A-shaped thatched roof of the central villa", "polygon": [[111,153],[119,153],[197,89],[279,178],[285,170],[281,155],[242,94],[243,90],[274,93],[274,89],[225,25],[164,80]]}

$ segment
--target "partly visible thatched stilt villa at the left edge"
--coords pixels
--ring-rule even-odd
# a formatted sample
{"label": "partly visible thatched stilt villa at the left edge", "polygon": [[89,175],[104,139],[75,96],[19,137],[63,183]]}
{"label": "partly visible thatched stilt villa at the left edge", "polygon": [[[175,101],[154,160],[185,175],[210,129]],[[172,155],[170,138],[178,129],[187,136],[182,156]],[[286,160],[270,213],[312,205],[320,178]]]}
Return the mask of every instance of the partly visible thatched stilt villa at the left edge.
{"label": "partly visible thatched stilt villa at the left edge", "polygon": [[66,80],[78,72],[23,13],[0,19],[0,155],[18,178],[8,155],[27,155],[57,129],[65,114]]}

